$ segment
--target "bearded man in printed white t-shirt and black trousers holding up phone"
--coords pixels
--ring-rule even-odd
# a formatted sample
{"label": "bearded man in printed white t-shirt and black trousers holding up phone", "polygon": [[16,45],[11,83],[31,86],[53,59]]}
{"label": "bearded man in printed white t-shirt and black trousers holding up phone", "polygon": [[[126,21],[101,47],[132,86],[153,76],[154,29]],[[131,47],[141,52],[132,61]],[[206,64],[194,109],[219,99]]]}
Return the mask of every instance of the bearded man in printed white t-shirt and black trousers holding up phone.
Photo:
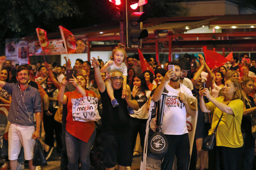
{"label": "bearded man in printed white t-shirt and black trousers holding up phone", "polygon": [[167,138],[169,147],[161,164],[161,169],[172,169],[175,155],[178,169],[188,169],[190,143],[186,115],[195,116],[196,111],[194,105],[191,105],[186,99],[186,96],[193,96],[192,92],[180,83],[180,63],[172,61],[169,64],[174,65],[174,71],[167,71],[153,95],[153,100],[158,101],[161,99],[163,92],[168,93],[163,106],[163,125],[161,128],[162,133]]}

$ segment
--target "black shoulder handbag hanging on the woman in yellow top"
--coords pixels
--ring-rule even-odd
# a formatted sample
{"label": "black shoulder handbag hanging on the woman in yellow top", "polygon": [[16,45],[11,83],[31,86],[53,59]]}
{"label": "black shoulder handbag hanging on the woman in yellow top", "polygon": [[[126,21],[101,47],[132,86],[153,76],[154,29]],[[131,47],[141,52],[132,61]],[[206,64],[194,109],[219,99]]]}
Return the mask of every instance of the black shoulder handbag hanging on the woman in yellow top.
{"label": "black shoulder handbag hanging on the woman in yellow top", "polygon": [[215,133],[216,133],[216,130],[217,130],[218,126],[219,126],[219,122],[221,121],[222,116],[223,116],[223,112],[221,114],[221,117],[219,118],[219,121],[218,121],[218,124],[217,124],[216,128],[214,129],[213,134],[207,135],[203,139],[202,150],[204,150],[204,151],[211,151],[211,150],[213,150],[213,147],[215,146],[215,143],[216,143]]}

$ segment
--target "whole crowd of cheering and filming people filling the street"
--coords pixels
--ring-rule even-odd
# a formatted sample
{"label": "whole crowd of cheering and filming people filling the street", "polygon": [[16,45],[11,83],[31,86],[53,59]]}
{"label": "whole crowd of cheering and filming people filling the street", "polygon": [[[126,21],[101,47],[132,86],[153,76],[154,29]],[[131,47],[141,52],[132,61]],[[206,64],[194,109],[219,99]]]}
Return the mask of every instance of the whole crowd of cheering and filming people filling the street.
{"label": "whole crowd of cheering and filming people filling the street", "polygon": [[[130,170],[133,157],[140,156],[144,148],[150,101],[158,102],[163,93],[175,102],[165,99],[161,128],[169,147],[161,169],[172,169],[175,156],[177,168],[184,170],[196,169],[198,159],[203,170],[207,158],[208,169],[256,168],[251,127],[256,123],[251,118],[256,116],[255,59],[233,54],[228,63],[215,69],[207,66],[201,54],[184,55],[164,63],[163,68],[154,58],[148,63],[154,73],[142,70],[141,63],[128,57],[119,43],[106,63],[94,57],[91,61],[77,59],[72,68],[76,76],[67,80],[70,60],[63,66],[37,61],[14,67],[1,56],[0,104],[10,105],[7,118],[0,114],[1,135],[7,120],[10,126],[8,142],[0,137],[0,155],[5,160],[0,170],[24,169],[25,160],[30,169],[41,169],[33,166],[35,139],[40,139],[46,160],[56,140],[62,170],[90,169],[92,165],[114,169],[116,163],[118,170]],[[168,70],[168,65],[174,68]],[[101,120],[74,121],[71,99],[81,97],[98,98]],[[196,113],[190,154],[186,117]],[[214,149],[203,150],[204,138],[216,126]]]}

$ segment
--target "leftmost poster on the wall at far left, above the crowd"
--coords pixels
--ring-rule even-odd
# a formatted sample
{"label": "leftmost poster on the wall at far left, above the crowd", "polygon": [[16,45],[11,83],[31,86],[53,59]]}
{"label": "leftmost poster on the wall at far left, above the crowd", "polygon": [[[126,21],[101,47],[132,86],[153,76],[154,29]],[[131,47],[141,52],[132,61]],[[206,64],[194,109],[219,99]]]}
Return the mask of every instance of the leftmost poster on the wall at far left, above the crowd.
{"label": "leftmost poster on the wall at far left, above the crowd", "polygon": [[18,39],[5,39],[6,60],[17,60]]}

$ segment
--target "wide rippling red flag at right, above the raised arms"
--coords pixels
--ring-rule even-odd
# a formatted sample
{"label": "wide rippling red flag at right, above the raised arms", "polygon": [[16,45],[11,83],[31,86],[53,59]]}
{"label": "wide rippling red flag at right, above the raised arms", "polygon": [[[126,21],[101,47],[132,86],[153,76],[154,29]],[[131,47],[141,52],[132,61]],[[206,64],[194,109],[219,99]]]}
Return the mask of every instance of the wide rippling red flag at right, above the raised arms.
{"label": "wide rippling red flag at right, above the raised arms", "polygon": [[233,56],[233,51],[231,51],[227,57],[223,57],[215,51],[207,50],[207,46],[203,46],[203,53],[205,55],[205,62],[211,69],[223,66],[226,62],[230,61]]}

